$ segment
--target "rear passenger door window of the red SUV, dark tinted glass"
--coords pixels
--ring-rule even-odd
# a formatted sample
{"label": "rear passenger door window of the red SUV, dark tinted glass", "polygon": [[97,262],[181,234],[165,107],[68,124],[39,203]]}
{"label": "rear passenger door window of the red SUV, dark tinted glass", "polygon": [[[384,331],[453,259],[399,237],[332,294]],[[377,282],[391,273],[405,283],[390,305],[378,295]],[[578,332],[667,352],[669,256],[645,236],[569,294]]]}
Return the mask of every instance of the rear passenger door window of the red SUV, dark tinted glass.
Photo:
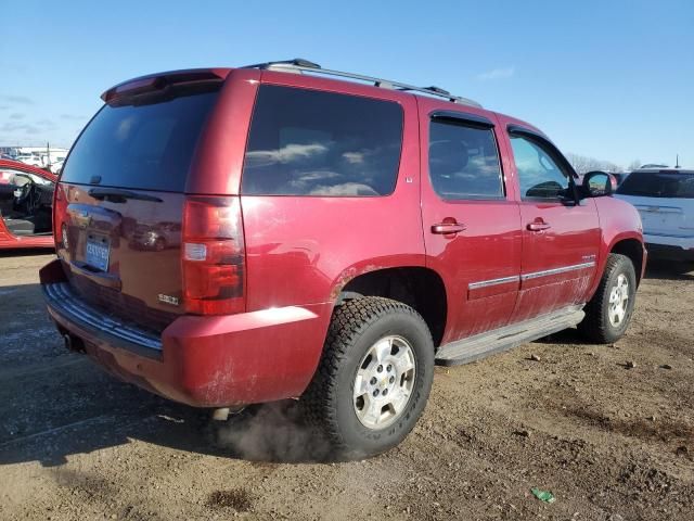
{"label": "rear passenger door window of the red SUV, dark tinted glass", "polygon": [[441,199],[501,199],[503,177],[491,128],[433,119],[429,178]]}

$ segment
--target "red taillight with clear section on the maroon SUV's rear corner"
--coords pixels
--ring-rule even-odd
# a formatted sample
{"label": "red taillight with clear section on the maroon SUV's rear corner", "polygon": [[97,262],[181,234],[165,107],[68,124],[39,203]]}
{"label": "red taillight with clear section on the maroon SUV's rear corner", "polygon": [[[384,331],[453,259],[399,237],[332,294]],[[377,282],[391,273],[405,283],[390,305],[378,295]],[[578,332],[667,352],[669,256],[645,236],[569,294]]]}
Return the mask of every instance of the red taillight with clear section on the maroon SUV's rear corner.
{"label": "red taillight with clear section on the maroon SUV's rear corner", "polygon": [[195,315],[245,310],[239,198],[189,196],[183,207],[183,306]]}

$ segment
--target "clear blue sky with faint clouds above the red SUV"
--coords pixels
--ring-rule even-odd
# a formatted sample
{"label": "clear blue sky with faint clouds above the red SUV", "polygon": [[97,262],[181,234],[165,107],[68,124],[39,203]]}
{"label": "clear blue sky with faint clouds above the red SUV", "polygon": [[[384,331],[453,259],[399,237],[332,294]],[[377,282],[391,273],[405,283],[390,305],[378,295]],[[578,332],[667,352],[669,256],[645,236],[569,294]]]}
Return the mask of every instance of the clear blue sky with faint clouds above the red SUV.
{"label": "clear blue sky with faint clouds above the red SUV", "polygon": [[694,167],[694,2],[2,0],[0,145],[69,145],[129,77],[301,56],[437,85],[565,152]]}

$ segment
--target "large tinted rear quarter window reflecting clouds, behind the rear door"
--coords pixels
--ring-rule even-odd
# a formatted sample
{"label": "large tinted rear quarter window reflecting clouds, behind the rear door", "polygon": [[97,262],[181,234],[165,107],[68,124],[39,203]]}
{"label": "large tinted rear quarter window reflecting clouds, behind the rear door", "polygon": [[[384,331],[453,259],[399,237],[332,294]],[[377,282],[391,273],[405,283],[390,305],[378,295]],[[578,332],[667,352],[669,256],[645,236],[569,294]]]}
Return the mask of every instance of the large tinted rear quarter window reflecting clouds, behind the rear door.
{"label": "large tinted rear quarter window reflecting clouds, behind the rear door", "polygon": [[393,102],[288,87],[258,92],[245,194],[387,195],[395,189],[402,110]]}

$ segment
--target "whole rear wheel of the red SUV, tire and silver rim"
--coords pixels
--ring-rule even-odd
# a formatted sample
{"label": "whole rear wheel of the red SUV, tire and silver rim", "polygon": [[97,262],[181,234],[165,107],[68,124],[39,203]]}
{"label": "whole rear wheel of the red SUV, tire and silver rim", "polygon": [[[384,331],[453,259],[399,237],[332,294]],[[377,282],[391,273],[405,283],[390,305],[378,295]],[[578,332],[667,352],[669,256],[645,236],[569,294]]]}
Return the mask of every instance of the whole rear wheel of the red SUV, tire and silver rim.
{"label": "whole rear wheel of the red SUV, tire and silver rim", "polygon": [[334,456],[374,456],[412,430],[433,377],[434,344],[422,317],[397,301],[358,298],[334,312],[301,403]]}

